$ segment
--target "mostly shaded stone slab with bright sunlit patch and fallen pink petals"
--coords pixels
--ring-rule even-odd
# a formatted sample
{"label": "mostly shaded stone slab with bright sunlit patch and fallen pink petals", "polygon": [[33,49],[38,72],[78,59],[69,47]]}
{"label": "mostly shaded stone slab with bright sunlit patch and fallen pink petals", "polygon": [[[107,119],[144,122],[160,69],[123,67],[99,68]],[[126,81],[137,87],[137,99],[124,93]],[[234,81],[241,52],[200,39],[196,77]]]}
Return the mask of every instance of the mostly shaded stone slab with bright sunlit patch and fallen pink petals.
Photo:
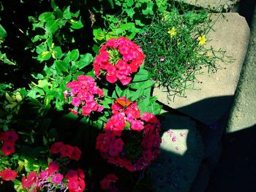
{"label": "mostly shaded stone slab with bright sunlit patch and fallen pink petals", "polygon": [[189,191],[203,158],[203,142],[194,120],[162,114],[161,155],[152,166],[156,192]]}

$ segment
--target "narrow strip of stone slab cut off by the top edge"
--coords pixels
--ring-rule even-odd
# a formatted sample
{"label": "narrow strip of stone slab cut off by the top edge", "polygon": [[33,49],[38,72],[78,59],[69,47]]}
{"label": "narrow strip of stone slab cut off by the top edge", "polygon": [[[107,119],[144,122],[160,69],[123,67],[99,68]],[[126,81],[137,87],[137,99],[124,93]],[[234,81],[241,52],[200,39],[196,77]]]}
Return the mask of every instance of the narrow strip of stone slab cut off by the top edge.
{"label": "narrow strip of stone slab cut off by the top edge", "polygon": [[235,6],[236,2],[239,0],[181,0],[184,3],[192,4],[197,7],[205,7],[211,9],[217,9],[222,11],[222,9],[231,9]]}

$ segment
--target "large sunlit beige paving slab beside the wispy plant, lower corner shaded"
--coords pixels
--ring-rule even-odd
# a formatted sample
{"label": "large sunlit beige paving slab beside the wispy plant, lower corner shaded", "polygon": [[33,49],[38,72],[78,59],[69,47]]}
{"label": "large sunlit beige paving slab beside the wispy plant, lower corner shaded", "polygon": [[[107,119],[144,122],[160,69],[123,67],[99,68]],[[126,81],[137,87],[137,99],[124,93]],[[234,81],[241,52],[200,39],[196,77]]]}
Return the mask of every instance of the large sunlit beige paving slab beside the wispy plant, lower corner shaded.
{"label": "large sunlit beige paving slab beside the wispy plant, lower corner shaded", "polygon": [[231,64],[217,62],[222,68],[217,73],[208,74],[203,69],[203,74],[197,75],[194,89],[186,91],[186,98],[176,96],[170,99],[165,88],[154,88],[154,95],[163,104],[175,110],[183,112],[206,125],[217,122],[225,113],[229,112],[233,102],[233,95],[241,72],[241,66],[246,55],[249,42],[249,27],[246,20],[238,13],[225,13],[225,18],[217,17],[214,31],[208,34],[206,46],[212,46],[215,50],[226,50],[226,55],[236,60]]}

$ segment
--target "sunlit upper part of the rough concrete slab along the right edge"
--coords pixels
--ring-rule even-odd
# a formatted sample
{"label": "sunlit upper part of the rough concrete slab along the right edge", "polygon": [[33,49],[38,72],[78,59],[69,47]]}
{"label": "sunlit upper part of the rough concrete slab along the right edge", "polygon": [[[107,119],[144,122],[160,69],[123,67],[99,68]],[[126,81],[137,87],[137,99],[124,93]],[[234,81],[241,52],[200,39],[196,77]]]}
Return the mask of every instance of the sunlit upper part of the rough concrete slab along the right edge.
{"label": "sunlit upper part of the rough concrete slab along the right edge", "polygon": [[233,109],[230,112],[228,132],[256,125],[256,12],[254,20],[252,20],[251,31],[251,38],[238,82]]}

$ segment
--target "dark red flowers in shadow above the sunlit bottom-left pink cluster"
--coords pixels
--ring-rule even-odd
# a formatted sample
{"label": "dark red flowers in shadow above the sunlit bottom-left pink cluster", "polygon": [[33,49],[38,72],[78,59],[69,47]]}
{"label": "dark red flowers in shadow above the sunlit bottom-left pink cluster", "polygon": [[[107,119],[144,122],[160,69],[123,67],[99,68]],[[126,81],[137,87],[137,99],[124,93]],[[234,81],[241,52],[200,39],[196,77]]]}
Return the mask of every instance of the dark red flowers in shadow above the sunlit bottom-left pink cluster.
{"label": "dark red flowers in shadow above the sunlit bottom-left pink cluster", "polygon": [[81,156],[81,150],[77,146],[65,145],[63,142],[55,142],[50,146],[50,153],[61,153],[61,158],[69,157],[79,161]]}

